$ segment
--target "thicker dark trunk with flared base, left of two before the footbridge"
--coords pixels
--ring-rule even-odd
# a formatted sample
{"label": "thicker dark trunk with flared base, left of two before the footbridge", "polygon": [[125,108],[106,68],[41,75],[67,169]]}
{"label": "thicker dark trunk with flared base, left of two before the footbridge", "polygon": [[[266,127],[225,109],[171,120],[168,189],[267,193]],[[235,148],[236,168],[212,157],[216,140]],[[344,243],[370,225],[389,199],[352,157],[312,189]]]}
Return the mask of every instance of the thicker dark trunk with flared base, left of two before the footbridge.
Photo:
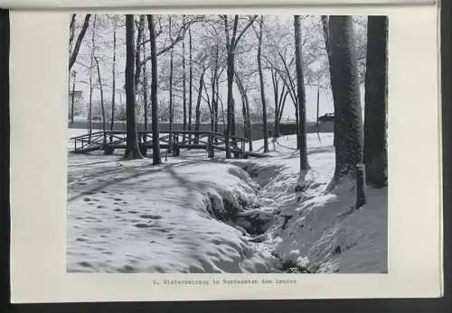
{"label": "thicker dark trunk with flared base, left of two before the footbridge", "polygon": [[135,98],[135,35],[134,15],[126,15],[126,119],[127,144],[125,160],[142,159],[138,147],[137,106]]}

